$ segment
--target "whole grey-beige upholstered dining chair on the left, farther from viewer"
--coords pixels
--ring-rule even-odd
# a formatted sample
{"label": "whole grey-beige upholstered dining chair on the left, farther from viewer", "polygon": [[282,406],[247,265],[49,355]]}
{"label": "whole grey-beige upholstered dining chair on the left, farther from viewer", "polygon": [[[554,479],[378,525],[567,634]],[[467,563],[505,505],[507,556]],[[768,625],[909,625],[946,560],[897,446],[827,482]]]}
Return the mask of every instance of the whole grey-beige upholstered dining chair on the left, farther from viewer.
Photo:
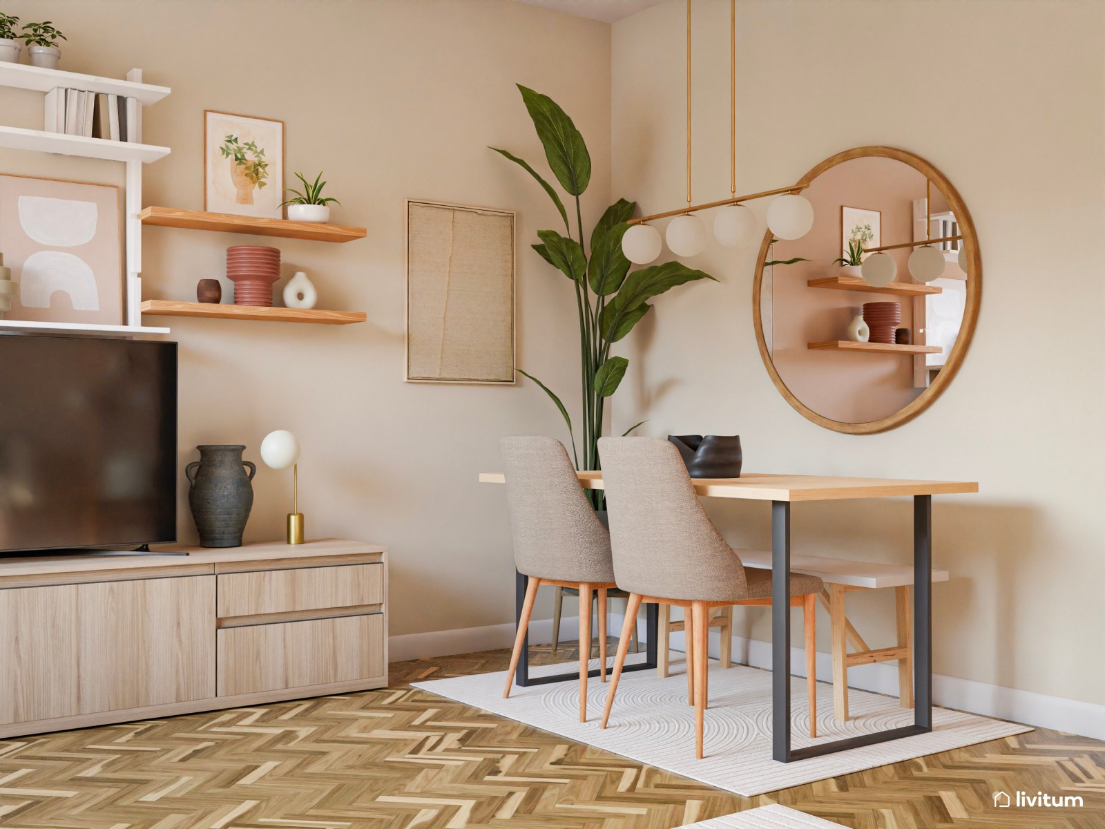
{"label": "whole grey-beige upholstered dining chair on the left, farther from viewer", "polygon": [[579,591],[579,722],[583,723],[594,591],[599,598],[599,676],[607,681],[607,591],[617,587],[610,534],[588,503],[560,441],[517,437],[502,438],[498,445],[506,475],[514,565],[529,577],[503,697],[511,695],[537,588],[569,587]]}

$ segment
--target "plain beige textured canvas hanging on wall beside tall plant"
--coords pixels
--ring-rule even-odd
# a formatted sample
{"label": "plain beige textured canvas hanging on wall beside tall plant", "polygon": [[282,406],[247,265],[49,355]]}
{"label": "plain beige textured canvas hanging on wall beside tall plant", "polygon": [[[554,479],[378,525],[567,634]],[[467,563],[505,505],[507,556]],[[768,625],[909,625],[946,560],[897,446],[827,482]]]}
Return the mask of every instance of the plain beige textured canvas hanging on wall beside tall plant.
{"label": "plain beige textured canvas hanging on wall beside tall plant", "polygon": [[514,384],[514,212],[406,208],[407,380]]}

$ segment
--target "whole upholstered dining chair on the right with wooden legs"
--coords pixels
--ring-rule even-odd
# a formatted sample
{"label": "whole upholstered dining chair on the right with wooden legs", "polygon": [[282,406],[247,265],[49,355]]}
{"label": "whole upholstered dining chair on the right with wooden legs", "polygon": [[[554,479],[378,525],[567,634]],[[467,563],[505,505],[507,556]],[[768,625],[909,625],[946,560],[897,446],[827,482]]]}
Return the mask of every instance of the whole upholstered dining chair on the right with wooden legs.
{"label": "whole upholstered dining chair on the right with wooden legs", "polygon": [[[599,459],[610,520],[614,578],[629,590],[625,618],[642,602],[674,605],[686,618],[687,695],[695,707],[695,754],[703,757],[707,702],[709,615],[713,608],[771,604],[771,571],[746,568],[714,527],[695,494],[678,450],[656,438],[600,438]],[[790,604],[801,607],[810,736],[817,736],[814,619],[817,576],[791,575]],[[618,641],[602,725],[621,678],[629,630]]]}

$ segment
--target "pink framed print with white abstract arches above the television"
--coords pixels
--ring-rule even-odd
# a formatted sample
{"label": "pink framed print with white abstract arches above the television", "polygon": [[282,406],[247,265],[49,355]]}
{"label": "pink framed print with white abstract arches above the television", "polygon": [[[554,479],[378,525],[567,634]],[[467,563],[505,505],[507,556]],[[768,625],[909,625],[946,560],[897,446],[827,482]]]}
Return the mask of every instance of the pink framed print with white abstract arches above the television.
{"label": "pink framed print with white abstract arches above the television", "polygon": [[119,188],[0,175],[0,252],[19,293],[8,319],[123,325]]}

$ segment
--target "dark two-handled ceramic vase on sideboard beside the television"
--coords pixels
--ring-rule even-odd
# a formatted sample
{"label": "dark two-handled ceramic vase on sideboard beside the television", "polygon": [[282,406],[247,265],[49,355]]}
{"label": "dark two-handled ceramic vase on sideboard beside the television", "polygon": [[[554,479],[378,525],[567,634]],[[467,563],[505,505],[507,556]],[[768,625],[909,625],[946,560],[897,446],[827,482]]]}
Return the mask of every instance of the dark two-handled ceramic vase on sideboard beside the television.
{"label": "dark two-handled ceramic vase on sideboard beside the television", "polygon": [[[257,468],[242,460],[245,447],[196,447],[200,459],[185,468],[191,489],[188,503],[200,532],[201,547],[240,547],[253,506],[253,475]],[[250,473],[245,474],[249,466]]]}

